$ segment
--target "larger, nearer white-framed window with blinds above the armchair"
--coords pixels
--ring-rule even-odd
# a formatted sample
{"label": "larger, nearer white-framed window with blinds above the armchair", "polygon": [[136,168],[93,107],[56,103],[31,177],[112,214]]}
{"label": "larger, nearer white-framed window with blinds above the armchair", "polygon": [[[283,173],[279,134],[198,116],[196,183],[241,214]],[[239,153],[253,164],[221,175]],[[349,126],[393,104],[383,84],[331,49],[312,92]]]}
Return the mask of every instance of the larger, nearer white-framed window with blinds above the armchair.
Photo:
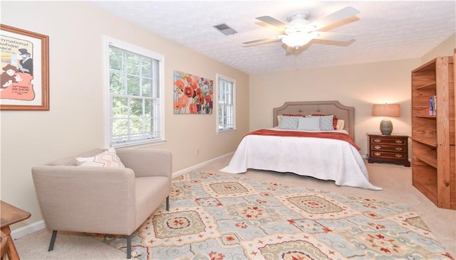
{"label": "larger, nearer white-framed window with blinds above the armchair", "polygon": [[163,141],[163,55],[104,41],[106,146]]}

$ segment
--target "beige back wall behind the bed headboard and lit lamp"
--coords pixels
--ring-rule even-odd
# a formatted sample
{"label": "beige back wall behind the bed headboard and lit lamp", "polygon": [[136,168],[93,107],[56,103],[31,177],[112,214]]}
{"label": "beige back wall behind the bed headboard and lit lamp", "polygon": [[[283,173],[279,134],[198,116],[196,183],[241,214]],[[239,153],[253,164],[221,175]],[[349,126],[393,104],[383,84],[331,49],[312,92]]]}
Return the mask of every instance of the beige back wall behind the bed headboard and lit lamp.
{"label": "beige back wall behind the bed headboard and lit lamp", "polygon": [[355,107],[355,141],[367,153],[368,132],[380,132],[372,104],[399,103],[393,134],[410,134],[410,71],[420,59],[250,75],[250,130],[272,126],[272,109],[284,102],[338,100]]}

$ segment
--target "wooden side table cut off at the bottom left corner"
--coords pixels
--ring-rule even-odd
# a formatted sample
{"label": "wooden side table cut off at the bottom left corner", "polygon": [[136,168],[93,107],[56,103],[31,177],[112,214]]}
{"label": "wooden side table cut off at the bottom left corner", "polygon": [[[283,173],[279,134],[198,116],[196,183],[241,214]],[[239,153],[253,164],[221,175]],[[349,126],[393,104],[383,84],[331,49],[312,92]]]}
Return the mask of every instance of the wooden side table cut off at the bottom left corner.
{"label": "wooden side table cut off at the bottom left corner", "polygon": [[17,254],[16,247],[14,246],[14,241],[11,238],[11,229],[9,229],[9,226],[11,224],[28,219],[28,217],[30,217],[31,214],[29,212],[19,209],[18,207],[9,205],[8,203],[3,202],[1,200],[0,202],[0,227],[1,232],[3,232],[6,235],[6,255],[8,256],[9,260],[20,260],[19,254]]}

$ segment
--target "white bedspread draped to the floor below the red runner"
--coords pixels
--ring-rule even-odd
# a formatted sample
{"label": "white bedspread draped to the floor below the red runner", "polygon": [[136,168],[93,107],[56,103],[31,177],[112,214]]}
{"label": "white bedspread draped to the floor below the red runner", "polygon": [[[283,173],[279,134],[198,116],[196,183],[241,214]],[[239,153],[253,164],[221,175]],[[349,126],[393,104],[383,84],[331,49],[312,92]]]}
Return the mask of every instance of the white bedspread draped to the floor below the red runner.
{"label": "white bedspread draped to the floor below the red runner", "polygon": [[382,190],[369,182],[361,154],[346,141],[291,136],[244,136],[224,173],[248,168],[296,173],[345,185]]}

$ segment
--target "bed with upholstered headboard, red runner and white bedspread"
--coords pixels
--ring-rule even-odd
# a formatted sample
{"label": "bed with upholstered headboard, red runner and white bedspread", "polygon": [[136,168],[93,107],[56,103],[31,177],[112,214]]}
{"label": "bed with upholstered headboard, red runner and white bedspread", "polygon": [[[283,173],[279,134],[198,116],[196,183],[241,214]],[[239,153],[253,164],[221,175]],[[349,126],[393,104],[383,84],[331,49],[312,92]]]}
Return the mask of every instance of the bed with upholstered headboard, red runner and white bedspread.
{"label": "bed with upholstered headboard, red runner and white bedspread", "polygon": [[[312,114],[333,115],[338,120],[343,120],[343,126],[338,126],[339,129],[334,131],[279,129],[279,120],[289,119],[289,116]],[[358,152],[359,147],[353,141],[354,119],[354,107],[346,107],[338,101],[286,102],[273,109],[274,127],[253,131],[244,136],[228,166],[220,171],[245,173],[248,169],[270,170],[320,180],[334,180],[336,185],[382,190],[369,182],[366,164]],[[282,121],[280,126],[284,125]],[[294,136],[292,131],[299,132],[297,134],[302,136]],[[323,137],[313,136],[314,134],[321,134]],[[327,137],[332,135],[344,138]]]}

